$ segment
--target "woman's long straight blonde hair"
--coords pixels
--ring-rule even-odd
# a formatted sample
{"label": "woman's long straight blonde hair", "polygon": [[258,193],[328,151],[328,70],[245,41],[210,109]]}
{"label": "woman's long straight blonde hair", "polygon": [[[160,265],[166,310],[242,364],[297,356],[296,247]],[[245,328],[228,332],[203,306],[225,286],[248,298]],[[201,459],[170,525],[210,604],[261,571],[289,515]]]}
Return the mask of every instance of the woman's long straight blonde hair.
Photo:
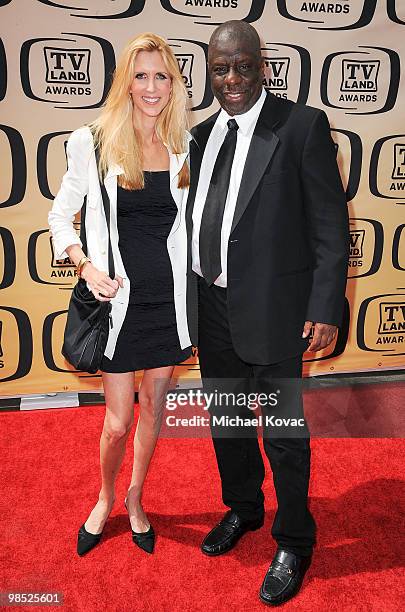
{"label": "woman's long straight blonde hair", "polygon": [[[89,124],[100,151],[101,174],[107,172],[110,164],[118,164],[124,170],[125,186],[131,189],[144,187],[142,147],[133,129],[132,100],[129,94],[139,51],[159,51],[172,79],[169,102],[156,121],[156,135],[172,153],[182,153],[187,146],[188,96],[178,62],[163,38],[151,32],[139,34],[125,46],[103,110],[99,117]],[[190,173],[185,163],[178,176],[178,187],[188,187],[189,183]]]}

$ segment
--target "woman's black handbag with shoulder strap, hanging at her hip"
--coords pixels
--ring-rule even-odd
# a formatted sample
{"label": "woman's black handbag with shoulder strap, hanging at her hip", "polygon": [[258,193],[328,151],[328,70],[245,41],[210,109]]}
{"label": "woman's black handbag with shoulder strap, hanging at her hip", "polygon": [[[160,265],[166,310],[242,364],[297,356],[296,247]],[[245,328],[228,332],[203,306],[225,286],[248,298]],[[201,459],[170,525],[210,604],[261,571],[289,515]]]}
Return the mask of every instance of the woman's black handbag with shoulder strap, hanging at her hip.
{"label": "woman's black handbag with shoulder strap, hanging at her hip", "polygon": [[[98,149],[96,149],[96,160],[98,167]],[[110,278],[114,279],[114,259],[110,237],[110,201],[101,180],[100,187],[108,229],[108,273]],[[83,251],[87,254],[85,218],[86,198],[82,207],[80,239]],[[62,355],[76,370],[95,374],[101,366],[110,325],[112,327],[111,302],[97,300],[92,291],[87,288],[86,281],[80,278],[70,298]]]}

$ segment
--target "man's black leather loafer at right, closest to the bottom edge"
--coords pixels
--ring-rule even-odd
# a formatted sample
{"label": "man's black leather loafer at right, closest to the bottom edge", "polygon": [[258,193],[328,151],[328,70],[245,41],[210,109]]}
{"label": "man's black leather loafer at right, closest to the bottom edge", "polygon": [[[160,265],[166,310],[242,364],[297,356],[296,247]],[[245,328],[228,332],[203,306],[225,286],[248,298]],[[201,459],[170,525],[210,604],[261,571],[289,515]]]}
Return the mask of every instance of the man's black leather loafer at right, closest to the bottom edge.
{"label": "man's black leather loafer at right, closest to the bottom edge", "polygon": [[279,548],[260,589],[265,604],[278,606],[298,593],[312,557],[300,557]]}

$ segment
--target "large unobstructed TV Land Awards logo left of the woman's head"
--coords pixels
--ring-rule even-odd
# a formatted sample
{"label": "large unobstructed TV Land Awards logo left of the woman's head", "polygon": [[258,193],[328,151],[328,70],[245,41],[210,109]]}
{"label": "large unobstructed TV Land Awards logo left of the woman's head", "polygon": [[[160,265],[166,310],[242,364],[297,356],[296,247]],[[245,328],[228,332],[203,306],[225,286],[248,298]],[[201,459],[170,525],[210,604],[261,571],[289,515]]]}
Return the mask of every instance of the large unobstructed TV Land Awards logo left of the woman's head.
{"label": "large unobstructed TV Land Awards logo left of the woman's head", "polygon": [[66,37],[23,43],[20,66],[24,93],[56,108],[97,108],[108,93],[115,68],[114,49],[97,36],[63,34]]}

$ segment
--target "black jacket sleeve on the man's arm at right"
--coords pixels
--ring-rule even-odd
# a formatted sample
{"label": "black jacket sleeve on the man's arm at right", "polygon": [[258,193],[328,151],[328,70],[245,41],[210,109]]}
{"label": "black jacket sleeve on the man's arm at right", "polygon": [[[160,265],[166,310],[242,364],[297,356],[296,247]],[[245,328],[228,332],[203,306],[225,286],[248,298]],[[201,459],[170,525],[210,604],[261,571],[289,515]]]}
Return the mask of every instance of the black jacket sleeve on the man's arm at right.
{"label": "black jacket sleeve on the man's arm at right", "polygon": [[336,150],[323,111],[315,115],[307,134],[301,180],[313,256],[306,320],[339,326],[349,258],[349,220]]}

